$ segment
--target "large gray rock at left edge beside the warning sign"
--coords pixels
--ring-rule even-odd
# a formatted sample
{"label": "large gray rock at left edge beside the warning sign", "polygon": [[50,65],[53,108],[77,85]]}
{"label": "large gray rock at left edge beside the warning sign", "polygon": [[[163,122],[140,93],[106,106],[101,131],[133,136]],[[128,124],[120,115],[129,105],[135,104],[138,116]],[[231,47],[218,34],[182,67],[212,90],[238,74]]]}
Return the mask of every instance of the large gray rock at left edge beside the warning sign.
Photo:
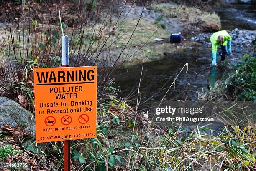
{"label": "large gray rock at left edge beside the warning sign", "polygon": [[[7,97],[0,97],[0,127],[8,125],[14,127],[18,124],[26,124],[26,130],[35,132],[35,121],[33,114],[17,102]],[[35,118],[35,117],[33,117]]]}

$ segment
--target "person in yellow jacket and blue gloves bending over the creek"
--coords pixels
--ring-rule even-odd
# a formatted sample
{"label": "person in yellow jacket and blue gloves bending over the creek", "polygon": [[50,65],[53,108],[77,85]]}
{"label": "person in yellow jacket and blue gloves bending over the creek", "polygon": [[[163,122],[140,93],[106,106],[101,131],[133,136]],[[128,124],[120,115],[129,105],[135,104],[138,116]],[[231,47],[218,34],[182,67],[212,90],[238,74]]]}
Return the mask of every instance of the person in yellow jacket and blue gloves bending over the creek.
{"label": "person in yellow jacket and blue gloves bending over the creek", "polygon": [[217,48],[221,47],[221,61],[225,60],[226,54],[231,54],[232,38],[226,30],[215,32],[211,35],[210,41],[212,43],[212,66],[216,65]]}

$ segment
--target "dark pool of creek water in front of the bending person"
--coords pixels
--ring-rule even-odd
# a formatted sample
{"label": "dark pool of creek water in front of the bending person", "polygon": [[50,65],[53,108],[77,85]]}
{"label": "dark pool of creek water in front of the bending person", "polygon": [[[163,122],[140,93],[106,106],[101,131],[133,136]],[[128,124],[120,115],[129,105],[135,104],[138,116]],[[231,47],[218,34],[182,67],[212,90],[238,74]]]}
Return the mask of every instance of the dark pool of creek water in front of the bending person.
{"label": "dark pool of creek water in front of the bending person", "polygon": [[[187,73],[184,68],[165,98],[166,100],[197,100],[197,91],[212,86],[229,69],[226,66],[211,68],[209,51],[210,48],[206,46],[195,47],[176,55],[166,56],[158,61],[144,63],[143,80],[140,87],[142,101],[146,99],[161,101],[174,78],[186,63],[189,65]],[[220,56],[217,61],[220,63]],[[142,64],[139,64],[117,71],[118,76],[115,80],[122,90],[121,96],[126,97],[133,91],[136,98],[141,68]]]}

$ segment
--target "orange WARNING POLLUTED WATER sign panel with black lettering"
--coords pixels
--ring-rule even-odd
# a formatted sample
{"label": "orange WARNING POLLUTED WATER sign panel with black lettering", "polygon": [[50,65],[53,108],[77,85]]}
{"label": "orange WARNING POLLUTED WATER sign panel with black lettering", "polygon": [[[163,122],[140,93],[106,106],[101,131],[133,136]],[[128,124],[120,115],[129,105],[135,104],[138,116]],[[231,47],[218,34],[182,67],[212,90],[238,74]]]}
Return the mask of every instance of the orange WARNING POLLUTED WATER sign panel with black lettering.
{"label": "orange WARNING POLLUTED WATER sign panel with black lettering", "polygon": [[96,137],[97,67],[35,68],[36,142]]}

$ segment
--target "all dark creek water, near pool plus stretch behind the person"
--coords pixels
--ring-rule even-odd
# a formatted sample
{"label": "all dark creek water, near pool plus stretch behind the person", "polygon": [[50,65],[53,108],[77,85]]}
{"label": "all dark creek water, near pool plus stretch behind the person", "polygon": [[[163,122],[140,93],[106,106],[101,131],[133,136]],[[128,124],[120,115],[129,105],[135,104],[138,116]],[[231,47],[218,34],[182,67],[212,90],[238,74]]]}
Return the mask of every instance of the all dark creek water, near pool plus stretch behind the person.
{"label": "all dark creek water, near pool plus stretch behind the person", "polygon": [[[220,15],[223,30],[233,30],[234,28],[255,30],[255,5],[233,4],[230,7],[232,8],[215,9]],[[188,63],[188,70],[184,68],[164,100],[197,100],[198,91],[209,88],[216,80],[225,77],[230,72],[228,65],[221,64],[219,67],[210,68],[210,52],[210,47],[202,43],[200,47],[192,47],[182,53],[144,63],[140,85],[141,103],[161,101],[174,78],[186,63]],[[227,60],[230,58],[228,57]],[[220,63],[220,55],[218,55],[217,61]],[[141,68],[142,64],[138,64],[117,70],[114,78],[116,85],[119,85],[122,91],[120,96],[124,98],[130,96],[130,99],[137,98]]]}

